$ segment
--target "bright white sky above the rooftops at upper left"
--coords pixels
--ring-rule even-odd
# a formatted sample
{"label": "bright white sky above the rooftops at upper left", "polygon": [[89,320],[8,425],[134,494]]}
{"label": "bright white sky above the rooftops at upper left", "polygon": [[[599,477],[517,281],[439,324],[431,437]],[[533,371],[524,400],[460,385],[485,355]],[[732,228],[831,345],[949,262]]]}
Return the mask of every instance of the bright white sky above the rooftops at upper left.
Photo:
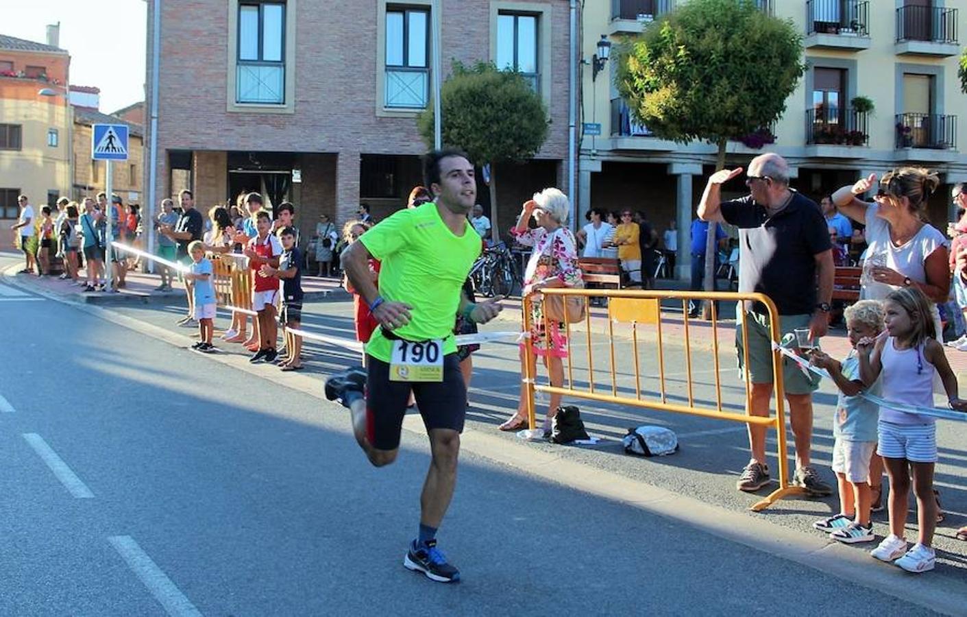
{"label": "bright white sky above the rooftops at upper left", "polygon": [[101,88],[101,111],[144,101],[145,0],[0,0],[0,34],[46,44],[60,21],[71,84]]}

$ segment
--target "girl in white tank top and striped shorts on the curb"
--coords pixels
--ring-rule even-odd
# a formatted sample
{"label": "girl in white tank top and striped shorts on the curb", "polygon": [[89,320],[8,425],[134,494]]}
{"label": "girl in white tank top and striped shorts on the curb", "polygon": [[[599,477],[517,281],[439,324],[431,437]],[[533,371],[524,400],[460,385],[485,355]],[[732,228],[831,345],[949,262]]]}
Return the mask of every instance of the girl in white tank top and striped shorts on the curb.
{"label": "girl in white tank top and striped shorts on the curb", "polygon": [[[857,344],[860,374],[872,384],[883,374],[883,397],[890,401],[933,407],[933,376],[940,375],[950,405],[967,411],[967,400],[957,395],[957,380],[937,342],[926,296],[917,287],[901,287],[883,301],[887,335],[864,338]],[[883,456],[890,478],[890,535],[870,555],[893,562],[903,570],[933,570],[936,556],[930,544],[937,526],[933,495],[933,467],[937,461],[937,426],[929,416],[880,407],[876,453]],[[912,473],[911,473],[912,472]],[[907,550],[903,528],[911,476],[917,497],[917,544]]]}

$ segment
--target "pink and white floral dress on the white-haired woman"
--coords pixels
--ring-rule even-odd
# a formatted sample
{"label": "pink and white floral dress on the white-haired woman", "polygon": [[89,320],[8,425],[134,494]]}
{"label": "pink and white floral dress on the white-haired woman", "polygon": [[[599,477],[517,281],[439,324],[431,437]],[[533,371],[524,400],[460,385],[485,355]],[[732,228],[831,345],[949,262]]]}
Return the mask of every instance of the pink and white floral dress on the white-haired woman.
{"label": "pink and white floral dress on the white-haired woman", "polygon": [[[527,270],[524,271],[524,285],[545,279],[559,279],[566,287],[580,286],[581,271],[577,267],[577,242],[571,230],[566,227],[547,232],[543,227],[512,231],[514,239],[525,247],[534,247]],[[534,353],[538,356],[565,358],[568,356],[568,337],[564,324],[548,320],[549,331],[544,330],[543,302],[535,296],[531,303],[531,341]]]}

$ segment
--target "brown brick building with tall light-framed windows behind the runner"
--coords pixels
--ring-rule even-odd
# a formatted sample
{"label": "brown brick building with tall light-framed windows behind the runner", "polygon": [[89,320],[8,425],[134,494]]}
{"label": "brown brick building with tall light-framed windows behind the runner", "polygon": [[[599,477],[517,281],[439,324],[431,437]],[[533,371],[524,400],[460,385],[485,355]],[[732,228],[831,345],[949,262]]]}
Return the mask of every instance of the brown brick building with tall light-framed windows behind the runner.
{"label": "brown brick building with tall light-framed windows behind the runner", "polygon": [[[567,184],[569,2],[440,5],[444,77],[454,60],[517,63],[547,106],[537,158],[498,169],[506,229],[531,193]],[[298,223],[311,229],[320,213],[341,222],[360,203],[385,217],[423,184],[416,116],[429,102],[430,0],[161,6],[158,200],[188,186],[205,208],[260,191],[296,203]],[[150,140],[150,120],[146,128]]]}

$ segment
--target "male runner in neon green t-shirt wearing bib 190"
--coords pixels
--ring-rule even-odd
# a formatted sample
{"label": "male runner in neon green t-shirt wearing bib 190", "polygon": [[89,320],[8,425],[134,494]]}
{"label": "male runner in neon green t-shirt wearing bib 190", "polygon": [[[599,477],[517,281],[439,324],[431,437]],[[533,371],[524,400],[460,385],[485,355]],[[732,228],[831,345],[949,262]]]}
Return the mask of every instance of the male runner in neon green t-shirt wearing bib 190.
{"label": "male runner in neon green t-shirt wearing bib 190", "polygon": [[[473,164],[458,151],[434,151],[426,156],[425,176],[435,202],[396,212],[342,252],[349,282],[380,327],[366,345],[367,368],[334,374],[325,390],[349,408],[356,441],[377,467],[396,459],[407,399],[411,390],[416,395],[432,460],[420,497],[420,533],[403,565],[452,582],[460,573],[437,549],[436,530],[454,495],[467,409],[454,321],[459,311],[485,323],[500,312],[501,298],[475,305],[460,293],[481,252],[480,235],[467,220],[477,198]],[[382,262],[378,291],[370,258]]]}

